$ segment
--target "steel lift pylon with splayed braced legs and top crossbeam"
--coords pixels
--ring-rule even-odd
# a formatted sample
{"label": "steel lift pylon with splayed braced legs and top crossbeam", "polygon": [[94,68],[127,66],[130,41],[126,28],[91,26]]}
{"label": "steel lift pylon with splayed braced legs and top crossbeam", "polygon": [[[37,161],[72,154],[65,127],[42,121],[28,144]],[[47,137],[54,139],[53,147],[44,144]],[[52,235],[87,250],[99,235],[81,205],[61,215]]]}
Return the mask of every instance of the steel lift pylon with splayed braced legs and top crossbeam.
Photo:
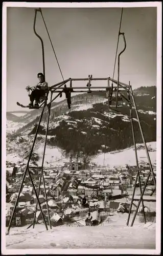
{"label": "steel lift pylon with splayed braced legs and top crossbeam", "polygon": [[[94,81],[94,80],[106,80],[107,81],[107,87],[91,87],[91,84],[90,84],[90,81]],[[9,230],[10,230],[10,227],[11,227],[11,224],[12,224],[12,220],[13,220],[13,217],[14,217],[14,214],[15,214],[15,211],[16,211],[16,207],[17,207],[17,204],[18,204],[18,200],[19,200],[19,197],[20,197],[20,193],[21,193],[21,190],[22,190],[22,186],[23,186],[23,183],[24,183],[24,180],[26,178],[26,175],[27,173],[29,174],[29,177],[30,177],[30,180],[31,180],[31,183],[32,183],[32,186],[34,188],[34,193],[35,193],[35,196],[36,196],[36,199],[37,199],[37,204],[36,204],[36,209],[35,209],[35,216],[34,216],[34,222],[33,222],[33,228],[35,226],[35,219],[36,219],[36,212],[37,212],[37,207],[39,206],[40,208],[40,212],[41,212],[41,216],[42,216],[42,219],[43,219],[43,222],[44,222],[44,225],[46,227],[46,230],[48,230],[48,225],[46,224],[46,221],[45,221],[45,217],[44,217],[44,214],[43,214],[43,211],[41,209],[41,205],[40,205],[40,202],[39,202],[39,192],[40,192],[40,185],[41,185],[41,179],[43,180],[43,187],[44,187],[44,195],[45,195],[45,202],[46,202],[46,207],[47,207],[47,211],[48,211],[48,218],[49,218],[49,225],[50,225],[50,228],[52,228],[51,226],[51,220],[50,220],[50,214],[49,214],[49,207],[48,207],[48,200],[47,200],[47,195],[46,195],[46,189],[45,189],[45,181],[44,181],[44,176],[43,176],[43,163],[44,163],[44,155],[45,155],[45,147],[46,147],[46,139],[47,139],[47,136],[48,136],[48,127],[49,127],[49,120],[50,120],[50,111],[51,111],[51,104],[52,102],[60,95],[62,95],[64,91],[64,88],[65,88],[65,83],[67,82],[70,82],[70,87],[67,87],[67,90],[70,90],[71,89],[71,93],[83,93],[83,92],[87,92],[87,93],[93,93],[93,92],[106,92],[106,90],[109,88],[109,81],[113,82],[114,83],[114,86],[113,88],[117,89],[118,88],[118,81],[117,80],[113,80],[111,79],[110,77],[107,77],[107,78],[92,78],[92,77],[88,77],[88,78],[69,78],[65,81],[62,81],[62,82],[59,82],[57,84],[54,84],[54,86],[52,86],[51,88],[49,88],[49,91],[51,91],[51,98],[50,98],[50,102],[47,103],[47,100],[45,100],[44,102],[42,102],[41,105],[43,105],[43,110],[40,114],[40,119],[39,119],[39,122],[38,122],[38,125],[37,125],[37,130],[36,130],[36,134],[35,134],[35,137],[34,137],[34,141],[33,141],[33,145],[32,145],[32,148],[31,148],[31,152],[30,152],[30,155],[29,155],[29,159],[28,159],[28,162],[27,162],[27,166],[26,166],[26,169],[25,169],[25,173],[24,173],[24,176],[22,177],[22,182],[21,182],[21,185],[20,185],[20,189],[19,189],[19,193],[18,193],[18,196],[17,196],[17,199],[16,199],[16,202],[15,202],[15,205],[14,205],[14,209],[13,209],[13,212],[12,212],[12,216],[11,216],[11,219],[10,219],[10,223],[9,223],[9,226],[8,226],[8,233],[9,233]],[[88,86],[86,87],[73,87],[73,84],[72,82],[73,81],[88,81]],[[64,86],[64,88],[63,88]],[[90,87],[91,87],[91,91],[90,91]],[[76,89],[76,90],[74,90]],[[82,89],[82,90],[80,90]],[[92,89],[96,89],[96,90],[92,90]],[[105,89],[105,90],[97,90],[97,89]],[[129,98],[127,99],[123,93],[126,93],[128,94]],[[52,96],[53,96],[53,93],[58,93],[56,97],[54,97],[52,99]],[[144,138],[144,133],[143,133],[143,130],[142,130],[142,126],[141,126],[141,121],[139,119],[139,115],[138,115],[138,111],[137,111],[137,107],[136,107],[136,103],[135,103],[135,99],[134,99],[134,95],[133,95],[133,91],[132,91],[132,88],[130,86],[130,84],[125,84],[125,83],[122,83],[122,82],[119,82],[119,93],[120,95],[124,98],[124,100],[127,100],[127,102],[129,103],[129,111],[130,111],[130,117],[131,117],[131,127],[132,127],[132,135],[133,135],[133,142],[134,142],[134,148],[135,148],[135,158],[136,158],[136,166],[137,166],[137,176],[136,176],[136,179],[135,179],[135,184],[134,184],[134,189],[133,189],[133,195],[132,195],[132,200],[131,200],[131,205],[130,205],[130,210],[129,210],[129,215],[128,215],[128,220],[127,220],[127,225],[129,224],[129,219],[130,219],[130,215],[131,215],[131,208],[132,208],[132,204],[133,204],[133,199],[134,199],[134,194],[135,194],[135,187],[136,187],[136,183],[137,183],[137,178],[139,180],[139,184],[140,184],[140,192],[141,192],[141,197],[139,199],[139,202],[138,202],[138,205],[137,205],[137,208],[135,210],[135,214],[134,214],[134,217],[133,217],[133,220],[132,220],[132,223],[131,223],[131,226],[133,225],[134,223],[134,220],[135,220],[135,217],[137,215],[137,211],[138,211],[138,208],[139,208],[139,205],[141,204],[142,202],[142,206],[143,206],[143,213],[144,213],[144,218],[145,218],[145,212],[144,212],[144,203],[143,203],[143,196],[144,196],[144,193],[145,193],[145,189],[146,189],[146,186],[147,186],[147,183],[148,183],[148,180],[149,180],[149,177],[150,175],[152,175],[153,177],[153,181],[154,181],[154,185],[155,185],[155,189],[156,189],[156,181],[155,181],[155,176],[154,176],[154,172],[153,172],[153,167],[152,167],[152,164],[151,164],[151,160],[150,160],[150,156],[149,156],[149,153],[148,153],[148,149],[147,149],[147,145],[146,145],[146,141],[145,141],[145,138]],[[132,98],[132,101],[130,100],[130,97]],[[40,105],[40,107],[41,107]],[[44,150],[43,150],[43,159],[42,159],[42,165],[41,167],[39,167],[41,169],[41,173],[40,173],[40,180],[39,180],[39,187],[38,187],[38,193],[36,191],[36,188],[35,188],[35,185],[33,183],[33,180],[32,180],[32,176],[31,176],[31,173],[30,173],[30,168],[35,168],[35,166],[29,166],[29,163],[30,163],[30,160],[31,160],[31,157],[32,157],[32,153],[33,153],[33,148],[34,148],[34,145],[35,145],[35,142],[36,142],[36,138],[37,138],[37,135],[38,135],[38,131],[39,131],[39,126],[40,126],[40,123],[41,123],[41,120],[42,120],[42,116],[43,116],[43,113],[44,113],[44,109],[45,109],[45,106],[48,107],[48,120],[47,120],[47,124],[46,124],[46,134],[45,134],[45,142],[44,142]],[[144,186],[144,189],[142,191],[142,187],[141,187],[141,177],[139,176],[139,167],[138,167],[138,159],[137,159],[137,152],[136,152],[136,142],[135,142],[135,134],[134,134],[134,125],[133,125],[133,118],[132,118],[132,111],[135,111],[136,112],[136,116],[137,116],[137,121],[138,121],[138,124],[139,124],[139,129],[141,131],[141,135],[142,135],[142,139],[143,139],[143,142],[144,142],[144,146],[145,146],[145,150],[146,150],[146,154],[147,154],[147,158],[148,158],[148,161],[149,161],[149,165],[150,165],[150,172],[149,172],[149,175],[147,177],[147,180],[146,180],[146,183],[145,183],[145,186]],[[146,218],[145,218],[145,222],[146,222]],[[31,225],[30,225],[31,226]]]}

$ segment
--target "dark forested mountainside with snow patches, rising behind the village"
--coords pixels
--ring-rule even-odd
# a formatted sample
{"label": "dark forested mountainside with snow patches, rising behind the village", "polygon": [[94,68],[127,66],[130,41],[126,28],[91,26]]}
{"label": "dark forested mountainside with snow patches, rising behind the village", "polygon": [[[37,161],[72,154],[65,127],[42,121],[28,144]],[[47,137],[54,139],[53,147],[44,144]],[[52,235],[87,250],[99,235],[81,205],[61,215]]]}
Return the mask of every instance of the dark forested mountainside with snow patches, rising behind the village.
{"label": "dark forested mountainside with snow patches, rising behind the village", "polygon": [[[144,91],[144,95],[135,96],[138,114],[146,141],[156,141],[156,87],[148,87]],[[46,131],[47,113],[46,110],[38,131],[42,136]],[[31,111],[16,119],[17,123],[8,121],[7,150],[10,150],[12,140],[35,134],[39,114],[40,110]],[[135,111],[133,122],[136,143],[141,143]],[[13,127],[16,127],[15,130]],[[99,97],[97,93],[75,95],[72,97],[72,111],[68,111],[66,100],[52,105],[48,136],[47,145],[57,146],[66,154],[82,151],[86,155],[96,155],[99,151],[123,150],[133,145],[129,108],[124,105],[121,112],[108,112],[106,96]]]}

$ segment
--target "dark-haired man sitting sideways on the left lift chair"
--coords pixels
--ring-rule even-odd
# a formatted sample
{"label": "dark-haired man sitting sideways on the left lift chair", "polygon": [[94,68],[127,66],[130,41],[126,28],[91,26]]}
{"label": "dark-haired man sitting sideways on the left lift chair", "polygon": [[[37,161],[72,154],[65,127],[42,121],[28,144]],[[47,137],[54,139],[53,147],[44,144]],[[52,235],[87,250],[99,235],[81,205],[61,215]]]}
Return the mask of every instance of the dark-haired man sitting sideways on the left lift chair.
{"label": "dark-haired man sitting sideways on the left lift chair", "polygon": [[38,73],[37,77],[39,79],[39,83],[34,90],[30,94],[30,103],[29,106],[33,106],[33,102],[35,100],[34,106],[38,108],[40,97],[45,96],[46,92],[48,91],[48,83],[45,82],[44,75],[42,73]]}

